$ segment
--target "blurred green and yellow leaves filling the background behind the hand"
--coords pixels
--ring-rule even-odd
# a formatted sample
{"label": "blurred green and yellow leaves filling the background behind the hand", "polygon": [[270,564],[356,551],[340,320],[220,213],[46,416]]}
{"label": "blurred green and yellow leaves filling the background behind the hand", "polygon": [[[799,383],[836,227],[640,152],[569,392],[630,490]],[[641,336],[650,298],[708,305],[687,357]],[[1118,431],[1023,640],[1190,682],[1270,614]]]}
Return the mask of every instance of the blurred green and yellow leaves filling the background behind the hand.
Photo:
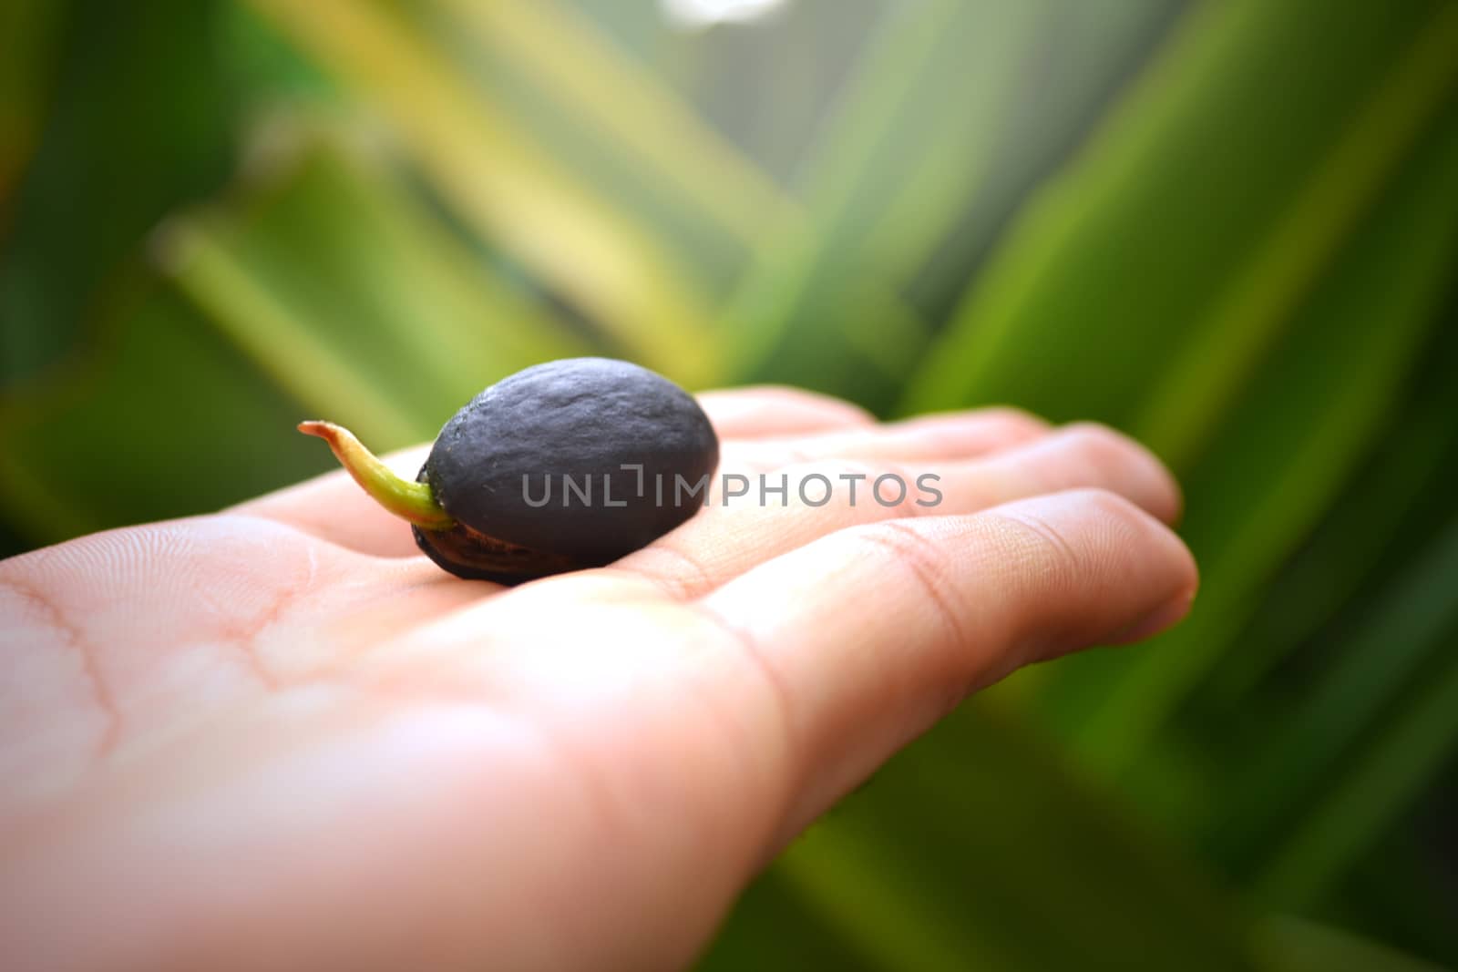
{"label": "blurred green and yellow leaves filling the background behind the hand", "polygon": [[1191,619],[965,705],[704,966],[1458,965],[1458,4],[10,0],[0,38],[9,552],[580,353],[1098,418],[1185,482]]}

